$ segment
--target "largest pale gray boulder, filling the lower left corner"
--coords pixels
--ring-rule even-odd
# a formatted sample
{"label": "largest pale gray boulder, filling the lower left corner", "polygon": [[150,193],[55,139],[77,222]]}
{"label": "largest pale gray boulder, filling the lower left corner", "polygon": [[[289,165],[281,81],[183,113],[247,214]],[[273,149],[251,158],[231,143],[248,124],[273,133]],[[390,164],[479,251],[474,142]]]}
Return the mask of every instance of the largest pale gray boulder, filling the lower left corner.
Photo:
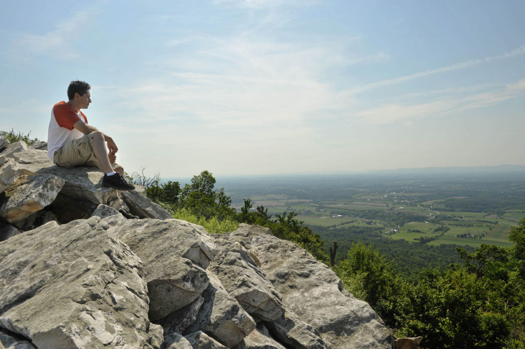
{"label": "largest pale gray boulder, filling the lower left corner", "polygon": [[0,326],[39,348],[159,347],[140,259],[99,217],[0,242]]}

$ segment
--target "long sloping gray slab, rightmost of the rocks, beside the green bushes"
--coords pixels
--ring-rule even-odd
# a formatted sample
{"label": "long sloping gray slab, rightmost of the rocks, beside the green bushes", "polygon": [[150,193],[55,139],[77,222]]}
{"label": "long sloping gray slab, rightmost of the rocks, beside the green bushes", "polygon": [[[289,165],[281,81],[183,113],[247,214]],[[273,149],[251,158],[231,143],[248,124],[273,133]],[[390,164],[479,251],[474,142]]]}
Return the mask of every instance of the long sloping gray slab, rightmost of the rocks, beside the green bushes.
{"label": "long sloping gray slab, rightmost of the rocks, beside the green bushes", "polygon": [[390,332],[370,305],[344,291],[335,273],[306,250],[270,235],[254,237],[251,246],[285,308],[334,347],[393,347]]}

